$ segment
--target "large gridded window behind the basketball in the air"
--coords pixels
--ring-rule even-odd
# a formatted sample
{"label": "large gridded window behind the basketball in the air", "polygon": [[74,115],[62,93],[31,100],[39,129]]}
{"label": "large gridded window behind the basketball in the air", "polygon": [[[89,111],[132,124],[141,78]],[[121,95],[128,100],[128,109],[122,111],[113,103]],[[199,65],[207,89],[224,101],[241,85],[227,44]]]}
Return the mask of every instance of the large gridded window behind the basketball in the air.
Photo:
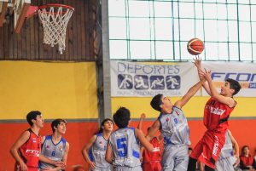
{"label": "large gridded window behind the basketball in the air", "polygon": [[108,0],[108,5],[113,60],[192,60],[187,43],[197,37],[205,43],[203,60],[256,61],[252,0]]}

